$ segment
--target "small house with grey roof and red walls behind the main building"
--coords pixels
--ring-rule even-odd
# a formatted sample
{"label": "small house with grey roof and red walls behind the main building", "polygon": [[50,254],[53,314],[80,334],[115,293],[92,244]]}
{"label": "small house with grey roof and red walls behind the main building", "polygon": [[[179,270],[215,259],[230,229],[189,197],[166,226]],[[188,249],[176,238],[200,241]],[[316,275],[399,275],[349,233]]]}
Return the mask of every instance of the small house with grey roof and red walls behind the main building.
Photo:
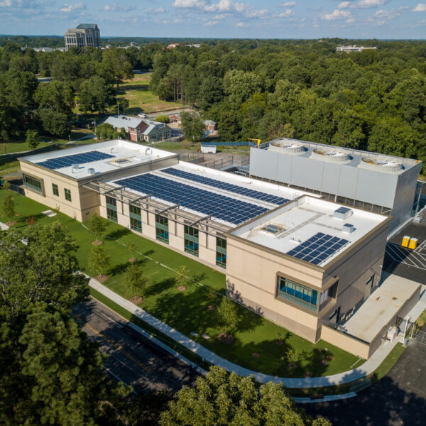
{"label": "small house with grey roof and red walls behind the main building", "polygon": [[115,129],[124,129],[133,142],[166,141],[172,137],[172,129],[159,121],[141,119],[129,116],[109,116],[105,123]]}

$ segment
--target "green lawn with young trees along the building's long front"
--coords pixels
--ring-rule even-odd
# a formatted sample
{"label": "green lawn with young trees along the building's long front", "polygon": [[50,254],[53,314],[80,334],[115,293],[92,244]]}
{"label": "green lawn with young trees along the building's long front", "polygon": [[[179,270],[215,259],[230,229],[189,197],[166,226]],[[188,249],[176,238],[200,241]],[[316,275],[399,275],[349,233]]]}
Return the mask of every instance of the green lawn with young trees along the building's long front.
{"label": "green lawn with young trees along the building's long front", "polygon": [[[1,198],[4,197],[4,193],[4,190],[0,191],[0,202]],[[96,275],[88,266],[88,257],[92,249],[90,241],[93,241],[94,237],[88,234],[80,222],[64,214],[58,214],[54,218],[45,217],[40,214],[46,209],[43,204],[38,204],[17,194],[14,194],[13,197],[16,201],[16,212],[19,214],[16,217],[18,223],[14,226],[26,226],[25,218],[28,216],[33,216],[40,224],[47,224],[59,219],[79,246],[77,258],[82,270],[91,276]],[[2,213],[0,213],[0,220],[1,222],[6,222],[7,220]],[[160,246],[153,241],[137,236],[123,226],[112,222],[108,222],[107,231],[103,239],[104,248],[111,256],[111,268],[107,271],[109,278],[105,285],[123,297],[131,297],[129,286],[123,279],[123,274],[128,265],[128,258],[131,257],[126,245],[133,242],[138,248],[136,257],[148,278],[145,299],[140,306],[188,337],[192,338],[190,332],[199,333],[200,337],[195,338],[197,342],[236,364],[263,373],[284,377],[300,377],[305,373],[310,373],[312,376],[339,373],[349,370],[351,365],[357,361],[356,356],[348,354],[331,344],[322,341],[312,344],[290,332],[285,337],[285,343],[278,345],[275,343],[278,332],[281,331],[285,334],[286,331],[241,306],[238,307],[241,322],[239,324],[239,332],[235,334],[236,342],[226,346],[216,339],[221,332],[219,318],[217,312],[207,310],[207,306],[212,302],[207,297],[206,288],[192,282],[187,285],[187,291],[178,291],[173,280],[175,272],[172,270],[185,265],[189,268],[190,275],[195,280],[201,282],[207,288],[213,288],[222,294],[225,290],[224,274],[197,261],[192,261],[190,258]],[[221,297],[221,295],[217,295],[217,304],[220,302]],[[201,334],[204,333],[211,338],[208,340],[202,338]],[[285,355],[285,352],[290,347],[299,352],[306,352],[306,359],[300,361],[298,363],[299,367],[295,369],[288,368],[288,363],[281,360],[281,357]],[[322,362],[324,356],[321,349],[324,347],[327,347],[332,354],[332,359],[329,359],[327,364]],[[253,356],[255,352],[260,354],[258,358]],[[362,361],[358,362],[356,366],[361,364]]]}

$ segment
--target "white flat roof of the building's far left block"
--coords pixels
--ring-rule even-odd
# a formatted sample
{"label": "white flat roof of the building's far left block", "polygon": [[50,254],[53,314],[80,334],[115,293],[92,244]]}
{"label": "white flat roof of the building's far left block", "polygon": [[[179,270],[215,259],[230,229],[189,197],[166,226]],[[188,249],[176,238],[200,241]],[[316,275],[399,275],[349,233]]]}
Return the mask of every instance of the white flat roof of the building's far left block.
{"label": "white flat roof of the building's far left block", "polygon": [[131,165],[148,163],[158,158],[167,158],[175,155],[175,153],[151,148],[151,146],[148,147],[139,143],[115,139],[113,141],[77,146],[76,148],[30,155],[28,157],[23,157],[23,159],[35,165],[38,164],[43,166],[43,164],[40,163],[44,163],[47,160],[55,160],[69,155],[90,153],[92,151],[107,154],[109,157],[102,160],[90,161],[88,163],[76,162],[75,164],[78,165],[78,168],[73,168],[72,165],[68,165],[67,167],[54,168],[53,170],[55,170],[55,172],[62,173],[63,175],[80,179],[87,178],[92,175],[89,173],[89,169],[94,169],[94,175],[99,175],[99,173],[119,170]]}

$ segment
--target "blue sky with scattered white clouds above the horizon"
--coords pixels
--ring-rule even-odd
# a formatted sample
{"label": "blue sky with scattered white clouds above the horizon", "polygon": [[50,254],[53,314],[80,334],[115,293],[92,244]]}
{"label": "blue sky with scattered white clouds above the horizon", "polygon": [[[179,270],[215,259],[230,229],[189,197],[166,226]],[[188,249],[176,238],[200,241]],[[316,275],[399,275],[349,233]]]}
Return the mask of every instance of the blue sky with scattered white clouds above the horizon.
{"label": "blue sky with scattered white clouds above the horizon", "polygon": [[0,33],[212,38],[426,38],[426,0],[0,0]]}

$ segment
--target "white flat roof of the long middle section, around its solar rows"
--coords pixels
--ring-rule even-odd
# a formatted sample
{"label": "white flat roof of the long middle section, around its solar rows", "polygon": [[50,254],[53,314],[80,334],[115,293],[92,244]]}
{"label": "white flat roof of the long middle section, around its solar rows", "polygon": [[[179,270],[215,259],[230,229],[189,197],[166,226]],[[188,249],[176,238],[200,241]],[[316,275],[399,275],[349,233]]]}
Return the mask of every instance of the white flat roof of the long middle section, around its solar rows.
{"label": "white flat roof of the long middle section, around its solar rows", "polygon": [[[173,175],[166,172],[165,170],[167,169],[169,169],[169,171],[170,169],[173,169],[177,171],[182,171],[184,173],[190,173],[190,175],[185,175],[185,176]],[[122,182],[119,182],[120,180],[135,178],[136,176],[146,175],[146,174],[147,173],[129,175],[129,176],[126,176],[126,178],[111,180],[108,183],[119,187],[123,185]],[[283,185],[275,185],[268,182],[261,182],[260,180],[245,178],[244,176],[241,176],[241,175],[234,175],[233,173],[223,172],[221,170],[214,170],[211,168],[203,167],[201,165],[186,163],[185,161],[180,161],[178,165],[173,165],[168,168],[158,169],[153,172],[149,172],[149,174],[158,176],[160,178],[172,180],[173,182],[178,182],[184,185],[188,185],[189,187],[194,187],[197,189],[208,191],[209,194],[224,195],[236,201],[239,200],[239,201],[246,202],[255,206],[263,207],[266,210],[275,209],[278,205],[283,204],[284,202],[295,200],[297,197],[300,197],[301,195],[306,194],[306,192],[284,187]],[[200,182],[200,180],[197,179],[198,177],[211,179],[213,181],[209,181],[209,185],[207,185],[206,183]],[[217,183],[219,183],[220,187],[217,186]],[[242,190],[242,191],[234,192],[233,190],[230,189],[230,187],[226,189],[224,185],[220,185],[220,184],[236,185],[237,187],[239,187],[239,190]],[[146,192],[141,192],[139,190],[131,189],[129,187],[126,190],[128,190],[129,192],[133,192],[137,195],[146,195]],[[267,200],[259,200],[258,198],[249,196],[251,195],[250,193],[249,195],[241,194],[241,192],[245,192],[244,190],[253,190],[253,191],[262,192],[265,195],[280,197],[281,201],[270,202]],[[317,196],[312,195],[312,197],[317,197]],[[151,198],[153,200],[164,202],[165,204],[168,204],[170,206],[177,204],[176,202],[170,202],[168,200],[165,200],[164,198],[161,198],[160,196],[158,197],[152,196]],[[192,214],[197,214],[200,217],[205,217],[208,214],[208,213],[206,214],[205,212],[199,212],[196,209],[191,209],[189,207],[186,207],[185,200],[183,200],[183,197],[182,197],[182,204],[180,206],[180,209],[187,212],[191,212]],[[215,222],[224,224],[226,226],[231,226],[231,227],[236,226],[236,224],[228,222],[227,220],[214,217],[214,214],[212,215],[211,219],[214,220]]]}

